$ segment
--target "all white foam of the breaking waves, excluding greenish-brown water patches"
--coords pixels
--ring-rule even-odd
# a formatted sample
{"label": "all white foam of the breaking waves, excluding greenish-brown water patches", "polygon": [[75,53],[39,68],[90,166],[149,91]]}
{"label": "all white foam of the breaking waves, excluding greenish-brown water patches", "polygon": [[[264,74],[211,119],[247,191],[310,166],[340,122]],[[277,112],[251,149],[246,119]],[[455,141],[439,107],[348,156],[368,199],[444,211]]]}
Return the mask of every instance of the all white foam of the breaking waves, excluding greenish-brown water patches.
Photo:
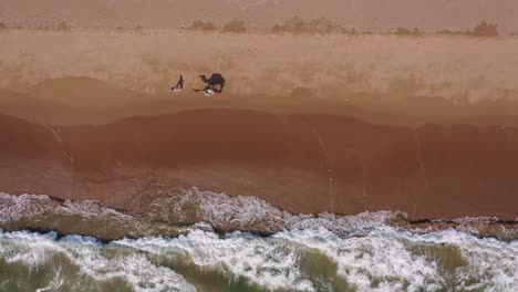
{"label": "all white foam of the breaking waves, excluding greenish-brown water patches", "polygon": [[[518,241],[479,239],[456,230],[414,233],[380,226],[361,237],[346,238],[324,228],[282,231],[267,238],[240,231],[220,238],[197,230],[173,239],[123,239],[108,246],[79,236],[56,240],[55,233],[0,232],[0,254],[10,254],[11,262],[43,264],[49,254],[59,252],[99,281],[123,278],[138,291],[159,291],[172,283],[179,291],[194,290],[183,277],[152,263],[146,254],[182,257],[197,267],[245,278],[267,290],[315,291],[315,282],[301,270],[304,252],[320,252],[335,262],[336,277],[359,291],[449,290],[454,289],[448,282],[452,278],[437,259],[413,248],[454,247],[465,262],[455,270],[456,290],[518,291]],[[130,252],[108,259],[100,252],[103,248]]]}

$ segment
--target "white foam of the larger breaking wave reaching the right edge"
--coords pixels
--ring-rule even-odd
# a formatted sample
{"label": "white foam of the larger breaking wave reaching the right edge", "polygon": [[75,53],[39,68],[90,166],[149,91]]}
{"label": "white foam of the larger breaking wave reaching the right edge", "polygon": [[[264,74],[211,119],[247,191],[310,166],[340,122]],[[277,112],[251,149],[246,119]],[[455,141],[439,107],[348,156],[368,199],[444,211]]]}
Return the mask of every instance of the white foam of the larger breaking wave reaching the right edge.
{"label": "white foam of the larger breaking wave reaching the right edge", "polygon": [[[447,230],[431,234],[377,227],[362,237],[342,238],[323,229],[282,231],[269,238],[232,232],[219,238],[195,231],[177,239],[144,238],[116,244],[167,257],[179,251],[200,267],[245,277],[269,290],[293,288],[314,291],[300,270],[300,255],[318,251],[338,265],[338,277],[359,291],[436,291],[450,288],[438,262],[413,252],[412,247],[434,243],[457,247],[467,267],[457,268],[457,290],[517,291],[518,242],[478,239]],[[466,244],[467,243],[467,244]],[[477,279],[468,283],[468,279]],[[375,283],[375,284],[374,284]]]}

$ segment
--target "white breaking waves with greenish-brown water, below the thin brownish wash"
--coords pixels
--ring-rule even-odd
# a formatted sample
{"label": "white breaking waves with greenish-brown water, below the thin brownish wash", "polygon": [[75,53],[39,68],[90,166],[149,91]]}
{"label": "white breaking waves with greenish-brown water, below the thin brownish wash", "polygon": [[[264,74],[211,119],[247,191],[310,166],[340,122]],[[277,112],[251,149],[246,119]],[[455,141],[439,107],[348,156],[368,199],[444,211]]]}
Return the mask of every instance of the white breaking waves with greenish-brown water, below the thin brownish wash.
{"label": "white breaking waves with greenish-brown water, below the thin brownish wash", "polygon": [[518,291],[518,242],[387,226],[104,243],[1,231],[0,291]]}

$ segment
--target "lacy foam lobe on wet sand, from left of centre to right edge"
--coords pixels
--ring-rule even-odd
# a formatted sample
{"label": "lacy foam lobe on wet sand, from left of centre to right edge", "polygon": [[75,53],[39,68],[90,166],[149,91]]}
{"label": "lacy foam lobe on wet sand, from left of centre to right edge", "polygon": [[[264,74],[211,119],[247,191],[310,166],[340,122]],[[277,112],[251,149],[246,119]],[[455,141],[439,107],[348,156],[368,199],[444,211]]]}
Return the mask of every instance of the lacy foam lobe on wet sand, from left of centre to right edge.
{"label": "lacy foam lobe on wet sand, from left of centre to right edge", "polygon": [[[274,233],[282,230],[325,228],[341,237],[351,233],[361,234],[384,226],[387,221],[406,220],[402,211],[366,211],[353,216],[334,213],[292,215],[282,211],[263,199],[253,196],[228,196],[224,192],[200,191],[191,187],[168,198],[158,198],[152,202],[152,213],[169,222],[191,222],[193,218],[206,221],[220,230],[246,230]],[[438,225],[434,225],[437,223]],[[434,232],[444,225],[441,220],[431,221],[429,226],[411,227],[415,231]],[[464,217],[449,222],[457,230],[472,234],[494,234],[506,239],[517,238],[516,229],[499,225],[494,217]],[[493,232],[493,233],[491,233]]]}

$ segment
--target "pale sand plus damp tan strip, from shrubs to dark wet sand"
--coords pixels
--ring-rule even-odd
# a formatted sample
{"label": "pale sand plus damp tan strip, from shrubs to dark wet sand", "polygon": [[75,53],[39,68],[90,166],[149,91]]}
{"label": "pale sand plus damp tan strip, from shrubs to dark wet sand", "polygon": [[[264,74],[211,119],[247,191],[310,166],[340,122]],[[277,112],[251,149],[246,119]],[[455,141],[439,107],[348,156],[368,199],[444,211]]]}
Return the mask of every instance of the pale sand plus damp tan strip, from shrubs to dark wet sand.
{"label": "pale sand plus damp tan strip, from shrubs to dark wet sand", "polygon": [[[0,42],[0,108],[20,115],[44,101],[52,106],[42,108],[51,108],[28,112],[45,123],[216,106],[355,113],[376,123],[517,125],[512,36],[11,30]],[[211,72],[221,72],[227,86],[208,101],[190,88],[203,87],[198,74]],[[173,94],[179,74],[187,90]]]}

